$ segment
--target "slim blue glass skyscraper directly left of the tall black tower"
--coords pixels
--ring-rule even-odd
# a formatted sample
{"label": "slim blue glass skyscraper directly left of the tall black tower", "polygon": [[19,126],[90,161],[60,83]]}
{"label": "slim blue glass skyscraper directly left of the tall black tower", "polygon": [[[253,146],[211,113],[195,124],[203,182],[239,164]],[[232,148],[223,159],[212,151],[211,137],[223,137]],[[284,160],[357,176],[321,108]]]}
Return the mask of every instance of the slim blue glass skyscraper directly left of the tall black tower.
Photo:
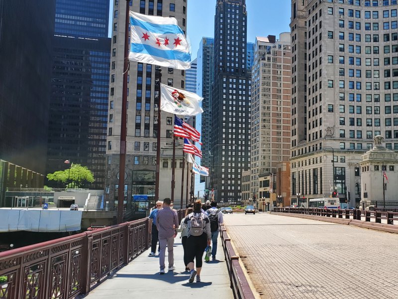
{"label": "slim blue glass skyscraper directly left of the tall black tower", "polygon": [[[214,80],[214,38],[203,37],[200,40],[198,50],[198,76],[197,76],[197,94],[203,98],[201,114],[201,165],[211,168],[210,149],[211,149],[211,102],[212,85]],[[210,173],[211,173],[211,169]],[[209,177],[207,177],[209,178]],[[209,189],[209,180],[207,179],[205,189]]]}

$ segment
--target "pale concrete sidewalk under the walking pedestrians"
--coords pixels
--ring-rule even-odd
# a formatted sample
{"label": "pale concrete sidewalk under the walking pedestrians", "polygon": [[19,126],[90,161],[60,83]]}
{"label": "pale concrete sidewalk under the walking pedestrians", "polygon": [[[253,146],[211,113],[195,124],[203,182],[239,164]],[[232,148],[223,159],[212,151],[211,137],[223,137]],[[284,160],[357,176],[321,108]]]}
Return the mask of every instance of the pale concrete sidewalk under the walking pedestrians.
{"label": "pale concrete sidewalk under the walking pedestrians", "polygon": [[[150,250],[143,252],[125,267],[109,277],[84,298],[189,298],[233,299],[232,289],[225,265],[221,239],[218,237],[217,260],[203,262],[201,282],[189,283],[189,272],[185,271],[180,234],[174,243],[174,264],[176,270],[165,275],[159,274],[159,257],[148,257]],[[211,257],[210,257],[211,259]],[[204,261],[204,254],[203,254]],[[167,249],[166,249],[167,271]]]}

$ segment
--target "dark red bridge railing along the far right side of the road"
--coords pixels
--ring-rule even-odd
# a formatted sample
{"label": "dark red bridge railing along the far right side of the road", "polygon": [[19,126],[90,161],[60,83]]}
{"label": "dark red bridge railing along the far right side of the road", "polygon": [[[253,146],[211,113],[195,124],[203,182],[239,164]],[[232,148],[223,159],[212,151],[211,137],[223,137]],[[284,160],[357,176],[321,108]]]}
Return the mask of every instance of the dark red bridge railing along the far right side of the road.
{"label": "dark red bridge railing along the far right side of the road", "polygon": [[382,223],[386,220],[387,224],[398,224],[398,212],[386,211],[363,211],[358,209],[325,209],[325,208],[274,208],[274,212],[294,213],[314,216],[325,216],[333,218],[355,219],[366,222]]}

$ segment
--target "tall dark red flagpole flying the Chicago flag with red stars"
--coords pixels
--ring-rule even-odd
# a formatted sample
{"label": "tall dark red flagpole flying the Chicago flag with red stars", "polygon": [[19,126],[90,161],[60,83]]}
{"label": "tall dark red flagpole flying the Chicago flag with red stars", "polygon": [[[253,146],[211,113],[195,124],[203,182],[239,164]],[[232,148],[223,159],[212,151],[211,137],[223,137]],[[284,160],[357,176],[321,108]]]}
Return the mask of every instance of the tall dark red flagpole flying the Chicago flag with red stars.
{"label": "tall dark red flagpole flying the Chicago flag with red stars", "polygon": [[128,60],[128,24],[130,18],[130,1],[126,0],[126,21],[124,26],[124,64],[123,64],[123,94],[121,104],[120,151],[119,151],[119,188],[117,195],[117,223],[123,221],[124,209],[124,172],[126,163],[126,135],[127,135],[127,72],[130,67]]}

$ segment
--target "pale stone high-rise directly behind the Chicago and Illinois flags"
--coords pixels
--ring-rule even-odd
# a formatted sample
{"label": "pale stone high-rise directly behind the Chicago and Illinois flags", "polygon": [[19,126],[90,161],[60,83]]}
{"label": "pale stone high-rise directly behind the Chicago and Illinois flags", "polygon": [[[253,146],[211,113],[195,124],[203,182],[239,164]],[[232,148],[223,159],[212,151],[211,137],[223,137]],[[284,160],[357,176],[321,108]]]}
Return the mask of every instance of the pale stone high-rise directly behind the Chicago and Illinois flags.
{"label": "pale stone high-rise directly behind the Chicago and Illinois flags", "polygon": [[[184,32],[187,30],[187,0],[141,0],[130,1],[130,10],[148,15],[174,16]],[[113,7],[111,70],[109,85],[108,136],[106,139],[105,200],[109,209],[116,208],[119,188],[120,123],[122,105],[122,78],[124,62],[124,24],[126,1],[116,1]],[[117,12],[116,12],[117,11]],[[159,91],[155,90],[155,74],[158,67],[130,61],[128,70],[127,149],[124,185],[124,203],[127,210],[145,212],[155,198],[156,150],[161,147],[160,192],[161,199],[171,197],[172,133],[174,116],[162,112],[161,132],[158,132]],[[185,89],[185,70],[161,67],[162,83]],[[157,135],[161,134],[161,144]],[[175,200],[181,198],[182,143],[177,142]],[[185,164],[185,175],[187,165]],[[187,184],[187,179],[184,180]],[[187,198],[183,188],[183,199]],[[190,192],[190,190],[188,190]],[[147,200],[140,202],[134,196]],[[140,197],[142,198],[142,197]]]}

